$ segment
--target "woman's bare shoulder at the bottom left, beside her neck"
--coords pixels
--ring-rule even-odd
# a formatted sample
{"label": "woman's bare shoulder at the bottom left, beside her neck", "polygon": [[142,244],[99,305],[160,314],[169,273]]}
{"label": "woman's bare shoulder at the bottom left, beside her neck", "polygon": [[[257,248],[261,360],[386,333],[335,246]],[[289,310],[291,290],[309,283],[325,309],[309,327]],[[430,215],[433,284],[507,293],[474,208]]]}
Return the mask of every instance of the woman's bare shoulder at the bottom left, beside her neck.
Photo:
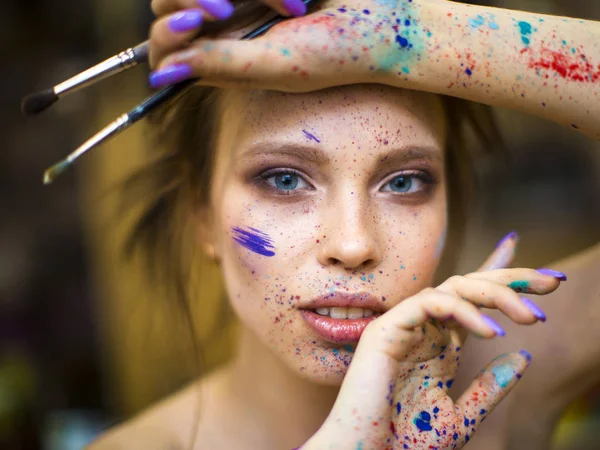
{"label": "woman's bare shoulder at the bottom left, beside her neck", "polygon": [[196,418],[199,389],[199,383],[185,387],[111,428],[86,450],[187,449]]}

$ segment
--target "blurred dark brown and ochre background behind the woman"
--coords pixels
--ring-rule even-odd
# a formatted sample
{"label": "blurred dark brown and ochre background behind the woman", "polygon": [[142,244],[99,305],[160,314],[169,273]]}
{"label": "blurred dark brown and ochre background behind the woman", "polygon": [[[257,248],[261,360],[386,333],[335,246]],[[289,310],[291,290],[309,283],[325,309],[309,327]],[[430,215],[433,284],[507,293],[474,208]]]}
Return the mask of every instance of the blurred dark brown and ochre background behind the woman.
{"label": "blurred dark brown and ochre background behind the woman", "polygon": [[[478,3],[600,20],[596,1]],[[145,39],[151,20],[148,0],[2,2],[0,449],[81,449],[194,376],[185,323],[120,258],[127,220],[115,220],[110,188],[140,164],[144,126],[52,186],[41,183],[47,166],[147,94],[144,69],[40,116],[19,111],[24,94]],[[521,235],[518,265],[544,266],[598,242],[600,145],[524,115],[499,117],[515,163],[483,180],[465,268],[512,229]],[[208,293],[222,296],[220,286]],[[226,348],[215,346],[207,364]],[[577,401],[563,424],[599,417],[599,394]]]}

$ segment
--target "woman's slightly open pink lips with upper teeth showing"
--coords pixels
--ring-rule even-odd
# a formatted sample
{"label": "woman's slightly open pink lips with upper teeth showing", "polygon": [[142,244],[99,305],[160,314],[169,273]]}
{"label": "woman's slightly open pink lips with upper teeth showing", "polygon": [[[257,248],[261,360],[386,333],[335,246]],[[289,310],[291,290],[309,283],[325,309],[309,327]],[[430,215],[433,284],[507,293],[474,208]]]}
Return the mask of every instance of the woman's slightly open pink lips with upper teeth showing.
{"label": "woman's slightly open pink lips with upper teeth showing", "polygon": [[382,300],[367,293],[334,292],[301,306],[307,325],[334,344],[356,344],[369,323],[385,312]]}

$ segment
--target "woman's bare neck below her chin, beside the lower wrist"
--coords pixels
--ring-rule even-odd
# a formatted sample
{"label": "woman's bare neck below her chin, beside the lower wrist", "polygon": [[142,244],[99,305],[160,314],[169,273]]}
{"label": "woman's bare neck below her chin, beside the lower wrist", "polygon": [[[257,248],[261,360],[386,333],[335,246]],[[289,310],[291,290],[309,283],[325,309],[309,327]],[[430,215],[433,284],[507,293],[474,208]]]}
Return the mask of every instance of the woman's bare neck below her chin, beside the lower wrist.
{"label": "woman's bare neck below her chin, beside the lower wrist", "polygon": [[293,372],[245,327],[226,379],[233,407],[252,411],[248,426],[264,429],[264,445],[252,442],[252,448],[300,446],[319,429],[339,392]]}

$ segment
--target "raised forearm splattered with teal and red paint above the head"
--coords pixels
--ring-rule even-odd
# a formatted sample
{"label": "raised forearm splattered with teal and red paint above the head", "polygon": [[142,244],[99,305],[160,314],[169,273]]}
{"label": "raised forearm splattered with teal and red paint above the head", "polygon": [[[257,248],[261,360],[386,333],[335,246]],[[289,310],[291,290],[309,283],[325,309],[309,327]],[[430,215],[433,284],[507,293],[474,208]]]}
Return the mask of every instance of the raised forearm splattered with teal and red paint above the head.
{"label": "raised forearm splattered with teal and red paint above the head", "polygon": [[600,139],[600,22],[400,3],[386,84],[521,110]]}

